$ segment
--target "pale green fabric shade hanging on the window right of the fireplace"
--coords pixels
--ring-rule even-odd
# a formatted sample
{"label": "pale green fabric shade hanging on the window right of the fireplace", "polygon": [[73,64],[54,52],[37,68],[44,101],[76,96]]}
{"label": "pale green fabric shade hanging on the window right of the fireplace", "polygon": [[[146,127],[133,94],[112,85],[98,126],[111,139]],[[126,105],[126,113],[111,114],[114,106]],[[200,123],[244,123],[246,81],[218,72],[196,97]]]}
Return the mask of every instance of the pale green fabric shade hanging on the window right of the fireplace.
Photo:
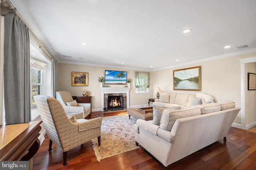
{"label": "pale green fabric shade hanging on the window right of the fireplace", "polygon": [[135,72],[134,84],[136,88],[145,90],[149,87],[149,72]]}

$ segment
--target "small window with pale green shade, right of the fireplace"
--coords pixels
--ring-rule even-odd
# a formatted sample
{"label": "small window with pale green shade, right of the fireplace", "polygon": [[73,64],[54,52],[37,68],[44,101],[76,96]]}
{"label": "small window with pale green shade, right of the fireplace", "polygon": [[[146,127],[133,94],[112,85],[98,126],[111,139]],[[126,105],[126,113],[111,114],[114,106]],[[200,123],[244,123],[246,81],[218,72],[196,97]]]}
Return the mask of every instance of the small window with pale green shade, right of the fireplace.
{"label": "small window with pale green shade, right of the fireplace", "polygon": [[136,94],[149,93],[149,72],[135,72],[134,84]]}

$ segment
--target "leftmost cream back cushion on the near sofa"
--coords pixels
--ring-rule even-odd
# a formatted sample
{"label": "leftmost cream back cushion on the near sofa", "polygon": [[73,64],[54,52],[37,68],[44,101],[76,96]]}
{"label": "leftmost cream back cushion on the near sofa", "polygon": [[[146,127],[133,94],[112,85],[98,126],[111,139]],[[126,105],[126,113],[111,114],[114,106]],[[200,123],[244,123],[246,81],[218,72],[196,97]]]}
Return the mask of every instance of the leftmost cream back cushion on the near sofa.
{"label": "leftmost cream back cushion on the near sofa", "polygon": [[176,119],[200,115],[201,111],[198,107],[190,107],[187,109],[165,109],[163,111],[159,127],[163,130],[170,131]]}

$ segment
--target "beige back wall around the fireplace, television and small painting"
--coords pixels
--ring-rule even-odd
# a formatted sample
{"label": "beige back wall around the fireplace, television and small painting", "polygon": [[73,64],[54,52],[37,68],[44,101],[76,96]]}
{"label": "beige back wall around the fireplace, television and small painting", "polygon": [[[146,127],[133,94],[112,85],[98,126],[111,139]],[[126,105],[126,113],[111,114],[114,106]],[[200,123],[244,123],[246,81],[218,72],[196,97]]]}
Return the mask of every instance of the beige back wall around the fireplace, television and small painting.
{"label": "beige back wall around the fireplace, television and small painting", "polygon": [[[58,63],[58,90],[68,90],[72,96],[83,96],[84,90],[92,96],[92,111],[100,111],[101,108],[101,91],[100,82],[97,78],[105,76],[105,70],[127,71],[127,78],[131,78],[130,106],[148,104],[148,98],[152,97],[152,72],[150,72],[149,94],[135,94],[134,72],[141,70],[129,70],[119,68],[107,68],[97,66],[84,66],[75,64]],[[88,72],[88,86],[71,86],[71,72]],[[145,71],[148,72],[148,71]],[[125,85],[109,85],[110,87],[124,87]]]}

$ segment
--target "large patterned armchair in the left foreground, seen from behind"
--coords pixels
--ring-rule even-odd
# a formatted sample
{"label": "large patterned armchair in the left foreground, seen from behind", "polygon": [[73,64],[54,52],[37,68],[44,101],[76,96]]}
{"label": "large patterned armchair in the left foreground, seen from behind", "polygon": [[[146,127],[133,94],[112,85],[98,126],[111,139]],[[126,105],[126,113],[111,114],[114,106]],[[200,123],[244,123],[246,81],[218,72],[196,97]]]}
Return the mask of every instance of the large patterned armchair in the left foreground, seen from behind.
{"label": "large patterned armchair in the left foreground, seen from behind", "polygon": [[76,119],[74,116],[68,118],[55,98],[38,95],[34,99],[50,139],[48,151],[52,150],[52,142],[60,147],[63,150],[63,166],[68,164],[68,150],[96,137],[100,145],[101,117],[90,120]]}

